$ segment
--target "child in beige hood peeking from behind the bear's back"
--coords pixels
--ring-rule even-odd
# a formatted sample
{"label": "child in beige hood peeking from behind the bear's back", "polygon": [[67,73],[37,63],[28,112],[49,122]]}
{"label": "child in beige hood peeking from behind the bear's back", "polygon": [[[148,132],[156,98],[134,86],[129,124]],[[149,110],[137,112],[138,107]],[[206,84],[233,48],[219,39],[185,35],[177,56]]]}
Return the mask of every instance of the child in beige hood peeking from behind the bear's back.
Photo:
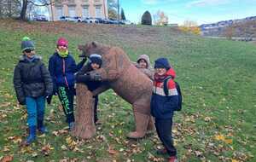
{"label": "child in beige hood peeking from behind the bear's back", "polygon": [[135,65],[141,72],[146,74],[148,78],[153,80],[154,72],[152,68],[150,67],[150,61],[148,55],[140,55],[137,58],[137,63]]}

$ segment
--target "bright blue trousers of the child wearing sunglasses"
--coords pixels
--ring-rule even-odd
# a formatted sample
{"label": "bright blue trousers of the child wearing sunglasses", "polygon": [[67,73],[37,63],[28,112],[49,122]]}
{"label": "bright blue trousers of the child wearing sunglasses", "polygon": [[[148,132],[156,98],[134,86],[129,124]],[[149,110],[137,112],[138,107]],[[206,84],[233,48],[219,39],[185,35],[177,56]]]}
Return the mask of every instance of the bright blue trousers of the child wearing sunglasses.
{"label": "bright blue trousers of the child wearing sunglasses", "polygon": [[45,97],[26,97],[27,124],[36,126],[37,120],[44,120]]}

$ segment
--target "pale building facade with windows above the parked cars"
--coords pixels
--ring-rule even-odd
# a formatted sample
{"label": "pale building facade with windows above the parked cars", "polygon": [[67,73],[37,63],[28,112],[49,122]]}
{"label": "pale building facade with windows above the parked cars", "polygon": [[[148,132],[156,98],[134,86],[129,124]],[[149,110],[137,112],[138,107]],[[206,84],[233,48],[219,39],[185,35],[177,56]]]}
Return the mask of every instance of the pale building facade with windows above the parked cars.
{"label": "pale building facade with windows above the parked cars", "polygon": [[107,0],[51,0],[49,19],[60,20],[61,16],[82,18],[108,18]]}

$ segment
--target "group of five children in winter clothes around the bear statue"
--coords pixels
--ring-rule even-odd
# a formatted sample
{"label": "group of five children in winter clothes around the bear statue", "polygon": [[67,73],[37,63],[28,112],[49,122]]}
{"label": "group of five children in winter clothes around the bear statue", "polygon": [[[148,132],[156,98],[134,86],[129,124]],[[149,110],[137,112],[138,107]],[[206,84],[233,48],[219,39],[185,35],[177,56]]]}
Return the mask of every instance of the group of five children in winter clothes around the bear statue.
{"label": "group of five children in winter clothes around the bear statue", "polygon": [[[87,73],[101,68],[102,56],[90,55],[89,62],[84,66],[86,58],[77,65],[68,51],[68,41],[59,38],[55,53],[49,58],[49,68],[44,66],[41,57],[35,55],[35,46],[30,38],[23,38],[21,42],[22,54],[15,67],[14,86],[17,99],[21,105],[26,105],[29,136],[26,145],[36,140],[37,130],[46,133],[44,126],[45,99],[50,95],[58,95],[63,111],[67,117],[69,129],[73,128],[73,99],[75,83],[83,83],[93,91],[101,86],[101,81],[90,81]],[[150,67],[148,55],[141,55],[135,66],[154,81],[151,98],[151,114],[155,119],[155,128],[164,149],[157,153],[168,153],[169,161],[177,160],[177,151],[172,142],[172,117],[174,107],[177,107],[177,89],[174,78],[175,72],[166,58],[154,61],[154,71]],[[168,95],[164,93],[164,82],[168,78]],[[171,78],[171,79],[169,79]],[[98,96],[95,96],[95,122],[97,119]]]}

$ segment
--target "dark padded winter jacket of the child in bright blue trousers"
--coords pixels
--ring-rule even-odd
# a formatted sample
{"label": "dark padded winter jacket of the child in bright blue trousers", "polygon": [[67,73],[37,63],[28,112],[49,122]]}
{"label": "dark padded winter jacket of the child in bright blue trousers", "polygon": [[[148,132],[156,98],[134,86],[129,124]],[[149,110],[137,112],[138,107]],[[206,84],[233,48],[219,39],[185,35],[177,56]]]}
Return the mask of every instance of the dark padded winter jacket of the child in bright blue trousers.
{"label": "dark padded winter jacket of the child in bright blue trousers", "polygon": [[26,96],[38,97],[52,93],[52,80],[41,57],[35,56],[32,61],[28,61],[25,55],[20,58],[15,67],[14,86],[17,99],[22,105],[25,104]]}

